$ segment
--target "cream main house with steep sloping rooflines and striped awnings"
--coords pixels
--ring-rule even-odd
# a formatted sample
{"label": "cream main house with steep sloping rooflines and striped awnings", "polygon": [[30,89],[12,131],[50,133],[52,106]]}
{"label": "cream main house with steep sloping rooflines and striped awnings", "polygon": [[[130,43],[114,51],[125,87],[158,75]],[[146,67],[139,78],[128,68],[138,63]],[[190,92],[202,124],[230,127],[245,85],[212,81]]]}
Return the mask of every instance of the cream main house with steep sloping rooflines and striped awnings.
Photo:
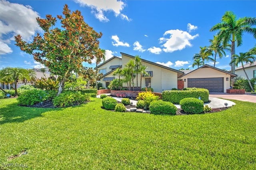
{"label": "cream main house with steep sloping rooflines and striped awnings", "polygon": [[[131,59],[134,60],[134,56],[128,55],[126,53],[121,53],[122,58],[112,57],[106,62],[97,66],[98,72],[102,72],[104,75],[100,78],[102,87],[107,88],[112,80],[118,78],[118,76],[113,76],[112,72],[116,68],[121,68]],[[164,90],[171,90],[172,88],[177,88],[178,82],[177,78],[184,74],[182,71],[175,70],[173,68],[163,66],[161,64],[153,63],[145,59],[141,59],[142,64],[146,65],[147,76],[142,78],[142,87],[150,87],[154,89],[154,92],[162,92]],[[138,75],[140,76],[140,74]],[[134,78],[134,86],[137,85],[137,78]],[[126,83],[123,87],[127,86]],[[140,77],[138,78],[138,86],[140,86]]]}

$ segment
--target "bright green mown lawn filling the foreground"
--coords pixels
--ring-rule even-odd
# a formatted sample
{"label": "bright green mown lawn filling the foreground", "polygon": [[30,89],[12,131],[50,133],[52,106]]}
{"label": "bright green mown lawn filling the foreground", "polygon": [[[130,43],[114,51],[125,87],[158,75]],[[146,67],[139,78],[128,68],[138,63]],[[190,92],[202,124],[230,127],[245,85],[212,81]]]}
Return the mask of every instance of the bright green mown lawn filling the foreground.
{"label": "bright green mown lawn filling the foreground", "polygon": [[256,169],[256,103],[169,116],[107,111],[101,101],[39,109],[0,100],[2,168]]}

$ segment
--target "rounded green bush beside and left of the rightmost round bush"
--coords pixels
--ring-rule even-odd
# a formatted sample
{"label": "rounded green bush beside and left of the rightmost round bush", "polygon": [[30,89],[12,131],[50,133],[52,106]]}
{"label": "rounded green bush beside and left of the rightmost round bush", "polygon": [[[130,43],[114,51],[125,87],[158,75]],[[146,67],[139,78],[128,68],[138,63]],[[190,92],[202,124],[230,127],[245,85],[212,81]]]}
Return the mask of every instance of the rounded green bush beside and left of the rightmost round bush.
{"label": "rounded green bush beside and left of the rightmost round bush", "polygon": [[174,104],[162,100],[151,102],[149,109],[150,113],[157,115],[175,115],[177,111],[177,107]]}

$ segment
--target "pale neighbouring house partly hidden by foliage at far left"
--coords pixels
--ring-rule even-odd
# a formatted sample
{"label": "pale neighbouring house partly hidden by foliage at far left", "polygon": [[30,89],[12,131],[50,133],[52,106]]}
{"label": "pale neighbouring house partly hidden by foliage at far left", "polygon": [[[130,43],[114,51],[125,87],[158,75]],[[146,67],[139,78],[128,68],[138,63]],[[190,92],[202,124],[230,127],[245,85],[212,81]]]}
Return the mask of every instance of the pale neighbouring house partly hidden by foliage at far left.
{"label": "pale neighbouring house partly hidden by foliage at far left", "polygon": [[[46,77],[46,78],[49,78],[50,77],[50,72],[49,72],[49,69],[48,68],[45,68],[45,72],[41,72],[41,68],[33,68],[32,70],[35,71],[36,73],[36,78],[42,78],[42,77]],[[20,86],[22,85],[25,85],[26,83],[26,80],[19,80],[18,83],[17,83],[17,88],[19,88]],[[34,84],[33,81],[30,81],[30,82],[27,82],[26,84]],[[14,87],[14,83],[11,85],[10,83],[1,83],[0,82],[0,86],[3,88],[3,89],[11,89],[12,87]]]}

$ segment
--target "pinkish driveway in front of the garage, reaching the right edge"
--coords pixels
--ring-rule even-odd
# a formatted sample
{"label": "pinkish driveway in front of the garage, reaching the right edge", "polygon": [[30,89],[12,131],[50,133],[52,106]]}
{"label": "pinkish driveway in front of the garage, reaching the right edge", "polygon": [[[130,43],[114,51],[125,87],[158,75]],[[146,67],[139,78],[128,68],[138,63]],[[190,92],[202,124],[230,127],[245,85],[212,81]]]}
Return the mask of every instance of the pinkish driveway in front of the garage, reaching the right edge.
{"label": "pinkish driveway in front of the garage, reaching the right edge", "polygon": [[245,101],[245,102],[256,103],[256,95],[255,94],[250,94],[250,93],[246,93],[246,94],[228,94],[228,93],[210,92],[209,97],[241,100],[241,101]]}

